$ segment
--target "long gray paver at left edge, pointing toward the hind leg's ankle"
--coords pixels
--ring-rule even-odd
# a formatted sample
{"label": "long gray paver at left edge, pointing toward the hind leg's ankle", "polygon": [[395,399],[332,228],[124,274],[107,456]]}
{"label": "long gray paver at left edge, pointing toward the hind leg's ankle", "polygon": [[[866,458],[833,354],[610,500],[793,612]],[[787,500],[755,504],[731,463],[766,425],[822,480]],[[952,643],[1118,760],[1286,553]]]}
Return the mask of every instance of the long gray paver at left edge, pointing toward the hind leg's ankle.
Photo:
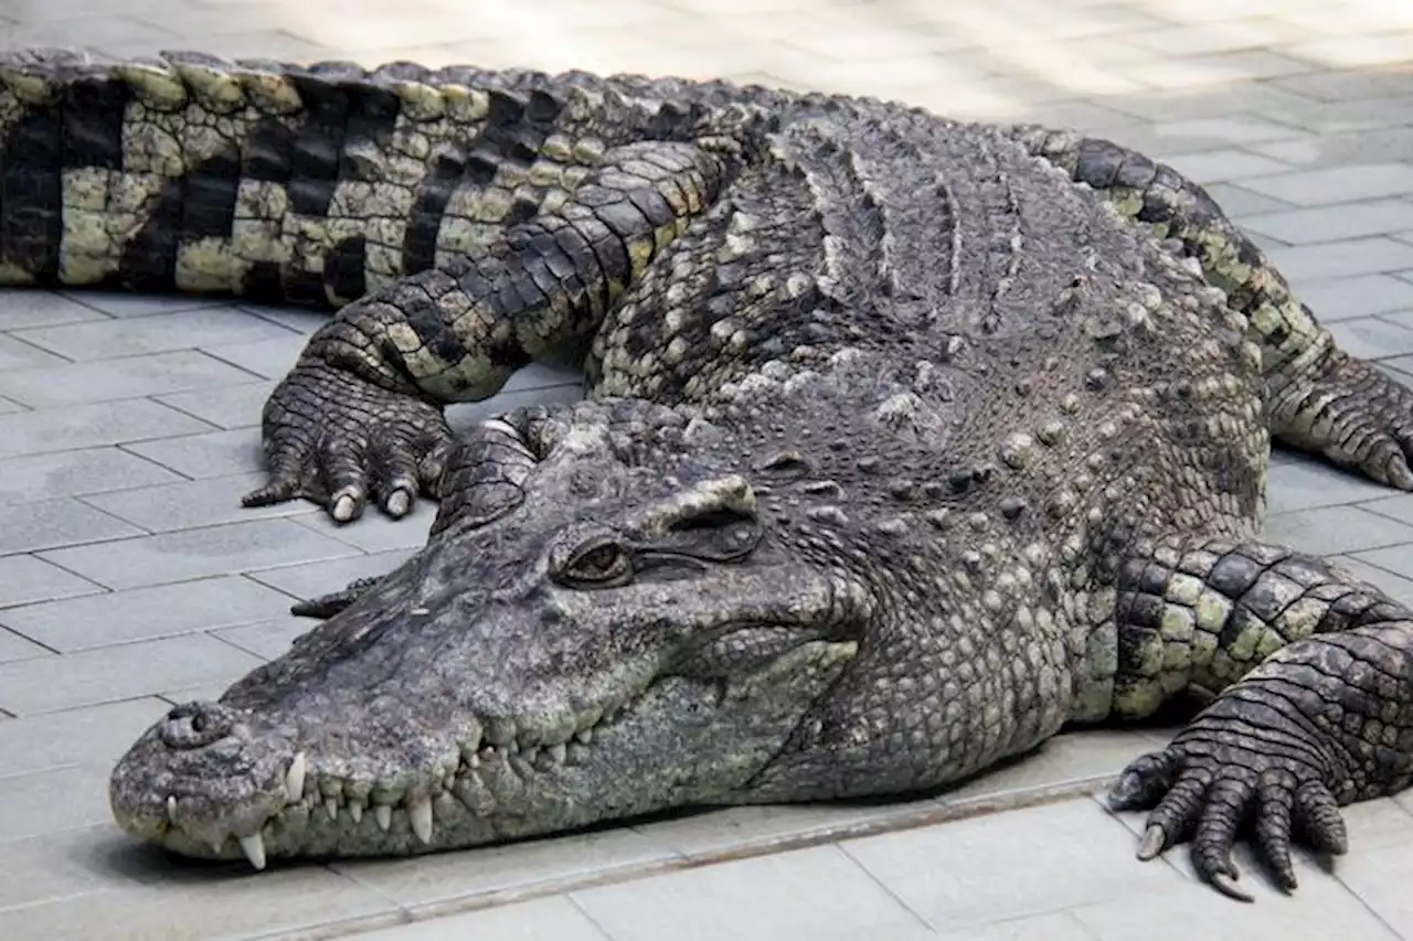
{"label": "long gray paver at left edge, pointing toward the hind leg's ankle", "polygon": [[126,356],[0,373],[0,393],[32,408],[138,398],[249,381],[252,376],[196,350]]}

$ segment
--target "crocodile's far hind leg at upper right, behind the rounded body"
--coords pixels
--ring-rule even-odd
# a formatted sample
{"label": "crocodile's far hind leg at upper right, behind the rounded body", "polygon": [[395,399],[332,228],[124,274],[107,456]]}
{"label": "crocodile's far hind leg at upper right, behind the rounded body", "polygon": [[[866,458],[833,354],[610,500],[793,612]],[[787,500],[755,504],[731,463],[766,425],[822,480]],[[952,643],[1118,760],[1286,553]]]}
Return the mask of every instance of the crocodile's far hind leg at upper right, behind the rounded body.
{"label": "crocodile's far hind leg at upper right, behind the rounded body", "polygon": [[1201,187],[1108,140],[1036,127],[1016,133],[1031,153],[1092,187],[1122,215],[1180,243],[1205,278],[1226,291],[1260,346],[1275,438],[1413,490],[1413,390],[1338,349],[1260,247]]}

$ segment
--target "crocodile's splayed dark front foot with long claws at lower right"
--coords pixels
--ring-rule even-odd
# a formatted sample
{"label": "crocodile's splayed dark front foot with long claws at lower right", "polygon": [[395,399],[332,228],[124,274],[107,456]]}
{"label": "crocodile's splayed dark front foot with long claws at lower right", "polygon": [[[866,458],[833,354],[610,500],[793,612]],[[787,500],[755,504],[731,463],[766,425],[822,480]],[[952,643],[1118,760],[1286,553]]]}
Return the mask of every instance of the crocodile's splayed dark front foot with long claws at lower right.
{"label": "crocodile's splayed dark front foot with long claws at lower right", "polygon": [[1345,852],[1348,836],[1324,774],[1310,763],[1317,749],[1296,739],[1293,729],[1267,736],[1235,711],[1221,715],[1231,705],[1218,699],[1211,708],[1215,714],[1204,714],[1167,749],[1132,762],[1109,791],[1109,807],[1152,808],[1139,859],[1191,841],[1197,875],[1222,894],[1252,901],[1236,884],[1241,873],[1232,862],[1243,825],[1252,825],[1276,883],[1286,892],[1296,889],[1290,859],[1296,831],[1314,849],[1331,855]]}

